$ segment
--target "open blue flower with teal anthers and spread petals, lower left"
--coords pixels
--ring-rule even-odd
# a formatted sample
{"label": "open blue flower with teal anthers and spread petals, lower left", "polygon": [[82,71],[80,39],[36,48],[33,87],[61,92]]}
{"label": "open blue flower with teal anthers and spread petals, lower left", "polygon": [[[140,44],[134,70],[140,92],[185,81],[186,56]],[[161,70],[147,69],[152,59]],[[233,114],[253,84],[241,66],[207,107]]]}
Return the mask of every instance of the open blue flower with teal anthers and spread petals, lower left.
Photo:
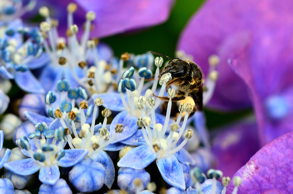
{"label": "open blue flower with teal anthers and spread petals, lower left", "polygon": [[[43,127],[41,129],[44,129]],[[30,175],[40,170],[39,180],[48,185],[54,185],[60,177],[59,167],[70,167],[79,163],[87,154],[88,150],[84,149],[66,149],[64,150],[64,129],[58,129],[57,132],[46,133],[47,138],[41,135],[40,130],[29,135],[33,142],[28,141],[25,136],[17,140],[17,145],[23,150],[23,153],[30,157],[11,161],[5,164],[5,168],[18,175]],[[42,137],[38,141],[35,137]],[[49,143],[49,137],[54,137]],[[51,137],[51,138],[52,138]],[[57,142],[57,139],[59,140]],[[39,143],[40,142],[40,143]]]}

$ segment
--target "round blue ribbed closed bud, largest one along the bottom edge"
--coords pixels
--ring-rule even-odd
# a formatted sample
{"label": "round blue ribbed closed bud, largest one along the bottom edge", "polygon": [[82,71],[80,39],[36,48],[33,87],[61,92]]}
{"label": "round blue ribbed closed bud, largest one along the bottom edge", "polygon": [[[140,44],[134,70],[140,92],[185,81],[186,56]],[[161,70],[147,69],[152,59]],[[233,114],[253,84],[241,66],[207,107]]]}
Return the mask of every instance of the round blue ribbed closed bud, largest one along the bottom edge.
{"label": "round blue ribbed closed bud, largest one along the bottom edge", "polygon": [[85,157],[69,172],[69,182],[80,192],[88,193],[102,188],[105,168],[102,164]]}

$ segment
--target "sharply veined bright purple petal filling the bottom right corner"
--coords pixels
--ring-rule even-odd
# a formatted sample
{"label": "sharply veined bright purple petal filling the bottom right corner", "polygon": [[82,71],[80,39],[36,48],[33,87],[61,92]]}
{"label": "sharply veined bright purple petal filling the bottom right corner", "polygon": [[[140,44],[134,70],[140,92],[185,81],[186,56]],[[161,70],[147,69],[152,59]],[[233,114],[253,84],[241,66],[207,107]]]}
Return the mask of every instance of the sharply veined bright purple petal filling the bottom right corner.
{"label": "sharply veined bright purple petal filling the bottom right corner", "polygon": [[[276,189],[283,193],[293,190],[293,132],[273,140],[261,148],[234,176],[242,178],[238,194],[264,193]],[[227,194],[234,185],[231,181]]]}

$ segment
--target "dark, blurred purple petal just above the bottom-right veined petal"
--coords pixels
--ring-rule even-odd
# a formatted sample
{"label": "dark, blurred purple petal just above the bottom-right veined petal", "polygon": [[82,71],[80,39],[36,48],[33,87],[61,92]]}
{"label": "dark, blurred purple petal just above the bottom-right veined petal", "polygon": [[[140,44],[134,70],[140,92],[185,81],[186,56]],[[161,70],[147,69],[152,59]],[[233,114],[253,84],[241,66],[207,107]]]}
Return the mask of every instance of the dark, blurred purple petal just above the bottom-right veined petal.
{"label": "dark, blurred purple petal just above the bottom-right veined petal", "polygon": [[255,122],[244,121],[217,131],[212,152],[224,176],[232,177],[260,149],[257,130]]}

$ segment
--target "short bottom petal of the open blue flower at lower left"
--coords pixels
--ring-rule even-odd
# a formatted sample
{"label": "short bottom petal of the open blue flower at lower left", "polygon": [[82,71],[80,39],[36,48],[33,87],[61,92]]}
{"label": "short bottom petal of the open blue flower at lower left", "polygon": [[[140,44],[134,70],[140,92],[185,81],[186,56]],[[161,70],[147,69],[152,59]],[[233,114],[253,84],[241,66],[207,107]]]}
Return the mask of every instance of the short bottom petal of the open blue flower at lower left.
{"label": "short bottom petal of the open blue flower at lower left", "polygon": [[39,180],[47,185],[54,185],[60,178],[60,171],[56,164],[43,166],[40,169]]}

